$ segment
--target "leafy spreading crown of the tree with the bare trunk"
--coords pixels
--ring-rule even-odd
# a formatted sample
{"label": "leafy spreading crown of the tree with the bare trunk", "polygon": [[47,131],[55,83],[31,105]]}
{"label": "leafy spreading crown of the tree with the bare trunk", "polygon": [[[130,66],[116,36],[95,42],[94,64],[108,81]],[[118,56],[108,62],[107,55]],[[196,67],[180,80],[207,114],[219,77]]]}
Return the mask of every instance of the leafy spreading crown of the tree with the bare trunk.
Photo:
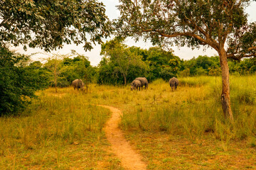
{"label": "leafy spreading crown of the tree with the bare trunk", "polygon": [[[143,37],[153,45],[192,48],[209,45],[219,52],[225,42],[246,26],[248,4],[249,0],[121,0],[118,6],[121,16],[115,26],[118,35],[136,40]],[[253,43],[250,45],[255,47]],[[238,48],[230,52],[247,56]]]}

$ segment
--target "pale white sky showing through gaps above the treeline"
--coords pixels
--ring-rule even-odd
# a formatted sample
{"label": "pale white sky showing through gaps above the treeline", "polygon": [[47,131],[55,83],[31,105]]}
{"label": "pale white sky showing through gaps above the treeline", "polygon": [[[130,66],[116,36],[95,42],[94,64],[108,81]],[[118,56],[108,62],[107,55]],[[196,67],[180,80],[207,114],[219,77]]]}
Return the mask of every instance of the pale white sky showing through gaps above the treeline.
{"label": "pale white sky showing through gaps above the treeline", "polygon": [[[119,11],[117,10],[117,4],[119,3],[119,0],[104,0],[102,1],[105,4],[106,8],[106,14],[110,18],[110,20],[117,18],[119,16]],[[256,2],[253,1],[250,6],[246,8],[246,12],[249,14],[248,21],[254,22],[256,21]],[[107,39],[110,40],[110,39]],[[103,40],[104,42],[106,40]],[[149,47],[152,47],[151,42],[147,41],[144,42],[143,40],[139,40],[139,42],[135,42],[132,38],[127,38],[127,40],[124,41],[125,44],[129,46],[137,46],[144,49],[148,49]],[[100,60],[103,56],[100,55],[101,46],[100,45],[94,45],[93,49],[90,51],[85,52],[85,50],[82,47],[83,45],[64,45],[63,49],[52,51],[51,53],[54,54],[69,54],[71,50],[75,50],[80,55],[85,55],[89,58],[90,63],[92,66],[97,66],[97,64],[100,63]],[[180,57],[183,60],[190,60],[193,57],[198,57],[198,55],[208,55],[208,56],[214,56],[218,55],[218,53],[208,48],[206,50],[203,50],[203,47],[201,49],[195,49],[191,50],[191,48],[188,47],[171,47],[172,50],[174,50],[174,55]],[[38,48],[28,48],[27,51],[23,50],[23,46],[18,47],[11,47],[11,50],[16,50],[16,52],[19,52],[21,54],[25,55],[31,55],[35,52],[43,52],[43,50]],[[45,53],[45,52],[43,52]],[[50,54],[49,54],[50,55]],[[47,57],[47,55],[33,55],[31,59],[33,61],[40,60],[42,57]]]}

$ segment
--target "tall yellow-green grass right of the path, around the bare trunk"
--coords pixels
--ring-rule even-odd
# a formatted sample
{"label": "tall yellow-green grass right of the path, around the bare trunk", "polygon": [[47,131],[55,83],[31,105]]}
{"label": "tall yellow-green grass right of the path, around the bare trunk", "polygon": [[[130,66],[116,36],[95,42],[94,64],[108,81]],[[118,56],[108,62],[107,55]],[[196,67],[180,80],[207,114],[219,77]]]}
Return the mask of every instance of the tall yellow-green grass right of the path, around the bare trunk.
{"label": "tall yellow-green grass right of the path, around the bare trunk", "polygon": [[[256,135],[256,77],[230,77],[235,123],[225,121],[220,105],[220,77],[180,79],[178,91],[161,80],[147,91],[152,103],[141,103],[124,112],[124,130],[166,131],[191,140],[208,135],[216,140],[242,140]],[[164,89],[167,89],[164,91]],[[135,98],[142,98],[138,94]],[[153,97],[152,97],[153,96]]]}

